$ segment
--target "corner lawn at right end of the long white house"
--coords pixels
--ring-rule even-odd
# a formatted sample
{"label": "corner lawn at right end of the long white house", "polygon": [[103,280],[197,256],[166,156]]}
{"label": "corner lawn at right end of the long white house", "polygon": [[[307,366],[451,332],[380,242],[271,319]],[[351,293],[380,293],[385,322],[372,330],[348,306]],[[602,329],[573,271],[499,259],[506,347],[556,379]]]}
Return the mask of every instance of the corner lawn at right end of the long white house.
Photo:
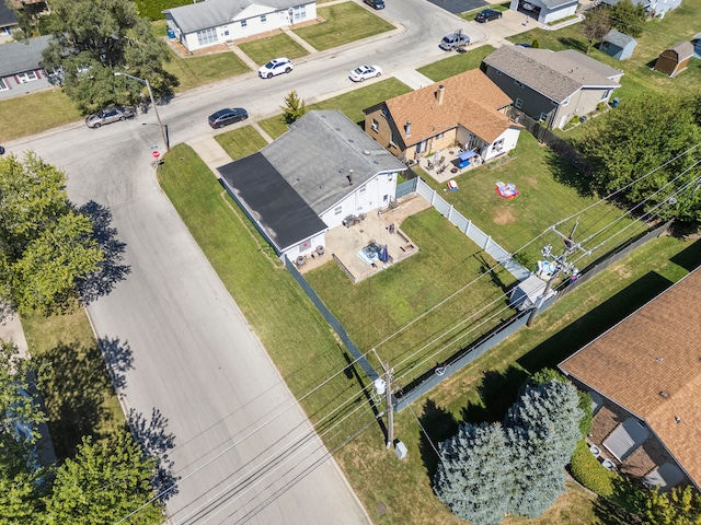
{"label": "corner lawn at right end of the long white house", "polygon": [[317,13],[323,19],[322,23],[294,31],[319,51],[394,28],[393,25],[354,2],[322,5]]}

